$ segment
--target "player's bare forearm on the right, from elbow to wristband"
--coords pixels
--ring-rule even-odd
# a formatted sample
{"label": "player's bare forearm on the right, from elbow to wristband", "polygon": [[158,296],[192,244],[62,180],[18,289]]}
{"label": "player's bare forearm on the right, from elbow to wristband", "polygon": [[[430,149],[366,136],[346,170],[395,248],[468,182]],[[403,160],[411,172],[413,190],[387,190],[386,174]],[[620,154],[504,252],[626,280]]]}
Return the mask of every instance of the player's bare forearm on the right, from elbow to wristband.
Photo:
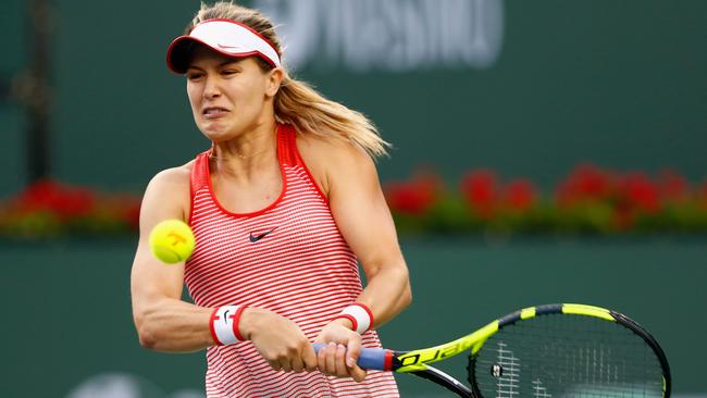
{"label": "player's bare forearm on the right, from elbow to wristband", "polygon": [[392,320],[412,301],[407,268],[386,266],[377,270],[369,276],[368,285],[357,301],[371,310],[374,327]]}

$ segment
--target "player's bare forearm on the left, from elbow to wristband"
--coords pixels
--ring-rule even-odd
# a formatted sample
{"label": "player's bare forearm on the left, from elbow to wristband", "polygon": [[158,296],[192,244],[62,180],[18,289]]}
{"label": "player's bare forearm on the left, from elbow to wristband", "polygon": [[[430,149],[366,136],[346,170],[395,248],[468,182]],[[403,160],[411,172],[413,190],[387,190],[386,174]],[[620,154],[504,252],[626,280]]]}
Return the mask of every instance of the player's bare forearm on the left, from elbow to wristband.
{"label": "player's bare forearm on the left, from elbow to wristband", "polygon": [[213,346],[209,328],[212,311],[166,297],[154,300],[135,313],[140,345],[165,352],[190,352]]}

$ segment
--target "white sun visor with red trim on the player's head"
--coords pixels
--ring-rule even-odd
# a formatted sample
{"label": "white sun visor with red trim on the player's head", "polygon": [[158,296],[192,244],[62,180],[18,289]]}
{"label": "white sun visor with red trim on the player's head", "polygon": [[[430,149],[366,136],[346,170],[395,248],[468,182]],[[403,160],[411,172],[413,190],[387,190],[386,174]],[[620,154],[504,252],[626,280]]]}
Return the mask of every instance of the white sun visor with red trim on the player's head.
{"label": "white sun visor with red trim on the player's head", "polygon": [[281,66],[277,51],[258,32],[231,20],[207,20],[196,25],[188,35],[172,41],[166,50],[166,64],[172,72],[186,73],[195,42],[226,57],[258,57],[273,67]]}

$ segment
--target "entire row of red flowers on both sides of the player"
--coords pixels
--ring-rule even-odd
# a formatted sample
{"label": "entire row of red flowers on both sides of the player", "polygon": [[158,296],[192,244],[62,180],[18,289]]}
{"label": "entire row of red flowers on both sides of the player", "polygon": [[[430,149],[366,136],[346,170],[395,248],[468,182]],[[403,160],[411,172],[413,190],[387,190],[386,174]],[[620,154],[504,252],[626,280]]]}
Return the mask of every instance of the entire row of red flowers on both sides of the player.
{"label": "entire row of red flowers on both sides of the player", "polygon": [[[384,185],[405,233],[707,233],[707,181],[691,184],[670,170],[652,176],[592,164],[551,190],[491,170],[468,172],[457,189],[431,172]],[[0,201],[0,236],[135,234],[140,198],[42,181]]]}

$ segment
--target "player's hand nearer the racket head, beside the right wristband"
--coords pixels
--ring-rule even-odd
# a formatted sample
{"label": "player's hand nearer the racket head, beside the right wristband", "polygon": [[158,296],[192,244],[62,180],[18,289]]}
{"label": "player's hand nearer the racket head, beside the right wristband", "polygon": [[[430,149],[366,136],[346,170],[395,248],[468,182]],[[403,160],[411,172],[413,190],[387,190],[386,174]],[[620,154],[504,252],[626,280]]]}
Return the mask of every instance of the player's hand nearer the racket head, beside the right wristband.
{"label": "player's hand nearer the racket head, beside the right wristband", "polygon": [[314,343],[326,344],[317,355],[317,368],[327,376],[365,378],[367,372],[356,363],[361,355],[361,335],[350,329],[346,319],[336,319],[322,328]]}

